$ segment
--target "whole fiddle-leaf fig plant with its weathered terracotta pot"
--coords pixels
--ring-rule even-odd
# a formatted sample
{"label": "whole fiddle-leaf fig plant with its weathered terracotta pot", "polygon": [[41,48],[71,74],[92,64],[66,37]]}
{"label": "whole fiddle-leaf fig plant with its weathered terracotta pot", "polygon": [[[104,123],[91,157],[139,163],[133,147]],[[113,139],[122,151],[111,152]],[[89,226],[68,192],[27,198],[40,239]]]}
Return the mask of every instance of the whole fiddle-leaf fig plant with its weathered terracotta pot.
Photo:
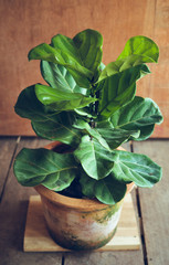
{"label": "whole fiddle-leaf fig plant with its weathered terracotta pot", "polygon": [[155,102],[136,96],[136,82],[150,73],[145,63],[158,61],[158,46],[134,36],[105,66],[102,45],[101,33],[88,29],[32,49],[29,60],[41,60],[47,84],[27,87],[14,107],[31,119],[38,136],[64,144],[63,153],[23,148],[14,174],[41,194],[52,237],[73,250],[106,244],[127,187],[150,188],[161,178],[150,158],[119,149],[123,142],[146,140],[162,121]]}

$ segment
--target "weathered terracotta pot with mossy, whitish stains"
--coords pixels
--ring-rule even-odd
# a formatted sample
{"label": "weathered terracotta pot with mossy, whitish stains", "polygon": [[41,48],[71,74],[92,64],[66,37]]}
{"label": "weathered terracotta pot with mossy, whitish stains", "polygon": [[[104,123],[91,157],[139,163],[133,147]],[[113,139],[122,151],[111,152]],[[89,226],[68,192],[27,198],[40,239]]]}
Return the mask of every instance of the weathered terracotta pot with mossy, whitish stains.
{"label": "weathered terracotta pot with mossy, whitish stains", "polygon": [[[47,146],[51,149],[52,146]],[[127,193],[134,184],[129,184]],[[47,229],[53,240],[70,250],[94,250],[107,244],[116,232],[123,200],[107,205],[97,200],[61,195],[43,186],[41,195]]]}

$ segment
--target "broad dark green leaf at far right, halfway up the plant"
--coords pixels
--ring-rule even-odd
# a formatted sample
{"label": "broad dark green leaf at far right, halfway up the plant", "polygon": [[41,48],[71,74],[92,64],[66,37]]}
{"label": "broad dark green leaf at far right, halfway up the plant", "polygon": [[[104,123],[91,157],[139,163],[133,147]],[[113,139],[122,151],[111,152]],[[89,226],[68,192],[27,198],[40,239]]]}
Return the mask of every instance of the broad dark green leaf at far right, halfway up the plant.
{"label": "broad dark green leaf at far right, halfway up the plant", "polygon": [[145,140],[152,134],[155,124],[162,121],[162,115],[152,99],[136,96],[131,103],[114,113],[110,121],[116,129],[139,130],[139,137],[133,136],[130,139]]}

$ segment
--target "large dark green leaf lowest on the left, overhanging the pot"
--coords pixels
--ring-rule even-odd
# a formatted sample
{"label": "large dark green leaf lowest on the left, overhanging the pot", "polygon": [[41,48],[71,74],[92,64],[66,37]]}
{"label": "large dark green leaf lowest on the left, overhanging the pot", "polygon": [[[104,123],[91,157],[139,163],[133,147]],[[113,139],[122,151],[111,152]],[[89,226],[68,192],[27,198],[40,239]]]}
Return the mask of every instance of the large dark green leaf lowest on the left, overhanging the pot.
{"label": "large dark green leaf lowest on the left, overhanging the pot", "polygon": [[23,148],[14,161],[14,174],[19,183],[27,187],[43,184],[55,191],[71,184],[76,169],[73,155],[61,155],[43,148]]}

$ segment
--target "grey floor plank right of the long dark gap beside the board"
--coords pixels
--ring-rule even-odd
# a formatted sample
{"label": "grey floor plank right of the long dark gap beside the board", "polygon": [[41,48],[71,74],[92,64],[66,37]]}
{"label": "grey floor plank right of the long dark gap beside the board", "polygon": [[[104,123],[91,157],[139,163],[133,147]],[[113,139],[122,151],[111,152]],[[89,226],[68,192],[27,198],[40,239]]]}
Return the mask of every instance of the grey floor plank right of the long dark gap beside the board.
{"label": "grey floor plank right of the long dark gap beside the board", "polygon": [[148,265],[169,264],[169,140],[135,142],[134,151],[162,167],[162,180],[152,189],[139,189]]}

